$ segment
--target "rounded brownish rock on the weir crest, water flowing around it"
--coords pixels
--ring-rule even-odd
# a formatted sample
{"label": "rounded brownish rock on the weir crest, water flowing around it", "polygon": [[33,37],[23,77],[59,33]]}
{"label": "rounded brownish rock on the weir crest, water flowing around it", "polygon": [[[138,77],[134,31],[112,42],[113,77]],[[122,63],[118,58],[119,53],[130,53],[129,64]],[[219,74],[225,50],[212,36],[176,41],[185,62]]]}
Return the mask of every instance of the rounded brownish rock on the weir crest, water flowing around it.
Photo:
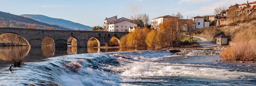
{"label": "rounded brownish rock on the weir crest, water flowing around it", "polygon": [[72,61],[66,64],[66,68],[69,68],[74,72],[77,72],[81,67],[82,65],[80,64],[80,61]]}

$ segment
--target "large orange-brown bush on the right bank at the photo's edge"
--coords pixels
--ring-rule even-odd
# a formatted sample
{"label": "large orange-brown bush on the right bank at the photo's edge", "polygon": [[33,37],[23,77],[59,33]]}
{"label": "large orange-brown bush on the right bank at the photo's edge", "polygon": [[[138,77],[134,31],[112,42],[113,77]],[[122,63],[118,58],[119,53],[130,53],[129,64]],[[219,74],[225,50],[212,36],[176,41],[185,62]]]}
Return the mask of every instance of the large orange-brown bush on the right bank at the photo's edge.
{"label": "large orange-brown bush on the right bank at the photo's edge", "polygon": [[256,59],[256,27],[244,29],[232,39],[233,46],[223,50],[221,56],[226,60]]}

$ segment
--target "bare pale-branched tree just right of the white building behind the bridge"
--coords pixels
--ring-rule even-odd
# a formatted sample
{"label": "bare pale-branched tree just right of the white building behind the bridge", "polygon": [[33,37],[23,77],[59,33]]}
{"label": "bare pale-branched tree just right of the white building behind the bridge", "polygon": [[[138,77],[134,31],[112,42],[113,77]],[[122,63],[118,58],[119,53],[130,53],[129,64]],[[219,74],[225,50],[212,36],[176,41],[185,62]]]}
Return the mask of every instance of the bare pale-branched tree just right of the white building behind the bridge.
{"label": "bare pale-branched tree just right of the white building behind the bridge", "polygon": [[131,20],[132,20],[132,23],[135,23],[135,24],[138,24],[138,23],[141,24],[140,23],[140,20],[141,20],[143,26],[149,25],[149,17],[148,17],[148,14],[146,13],[136,14],[131,17]]}

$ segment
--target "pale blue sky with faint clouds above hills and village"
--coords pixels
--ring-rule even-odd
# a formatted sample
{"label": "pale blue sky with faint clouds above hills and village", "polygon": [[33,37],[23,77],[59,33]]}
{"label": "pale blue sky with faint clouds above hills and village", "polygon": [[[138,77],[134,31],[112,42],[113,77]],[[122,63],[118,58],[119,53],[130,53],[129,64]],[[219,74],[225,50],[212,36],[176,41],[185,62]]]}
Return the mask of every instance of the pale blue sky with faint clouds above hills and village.
{"label": "pale blue sky with faint clouds above hills and village", "polygon": [[[247,0],[0,0],[0,11],[15,15],[40,14],[83,25],[103,26],[104,19],[130,19],[146,13],[150,19],[180,12],[187,16],[213,15],[218,6],[244,4]],[[249,0],[253,2],[253,0]]]}

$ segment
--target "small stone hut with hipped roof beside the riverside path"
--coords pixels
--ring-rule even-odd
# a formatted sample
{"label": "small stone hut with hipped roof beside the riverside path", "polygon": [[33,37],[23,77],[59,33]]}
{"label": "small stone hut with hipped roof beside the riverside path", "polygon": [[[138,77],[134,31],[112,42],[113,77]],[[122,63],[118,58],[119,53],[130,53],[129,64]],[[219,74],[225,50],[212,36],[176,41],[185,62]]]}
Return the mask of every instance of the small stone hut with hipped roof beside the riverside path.
{"label": "small stone hut with hipped roof beside the riverside path", "polygon": [[228,45],[229,37],[224,34],[221,34],[221,35],[215,37],[215,39],[216,39],[217,45]]}

